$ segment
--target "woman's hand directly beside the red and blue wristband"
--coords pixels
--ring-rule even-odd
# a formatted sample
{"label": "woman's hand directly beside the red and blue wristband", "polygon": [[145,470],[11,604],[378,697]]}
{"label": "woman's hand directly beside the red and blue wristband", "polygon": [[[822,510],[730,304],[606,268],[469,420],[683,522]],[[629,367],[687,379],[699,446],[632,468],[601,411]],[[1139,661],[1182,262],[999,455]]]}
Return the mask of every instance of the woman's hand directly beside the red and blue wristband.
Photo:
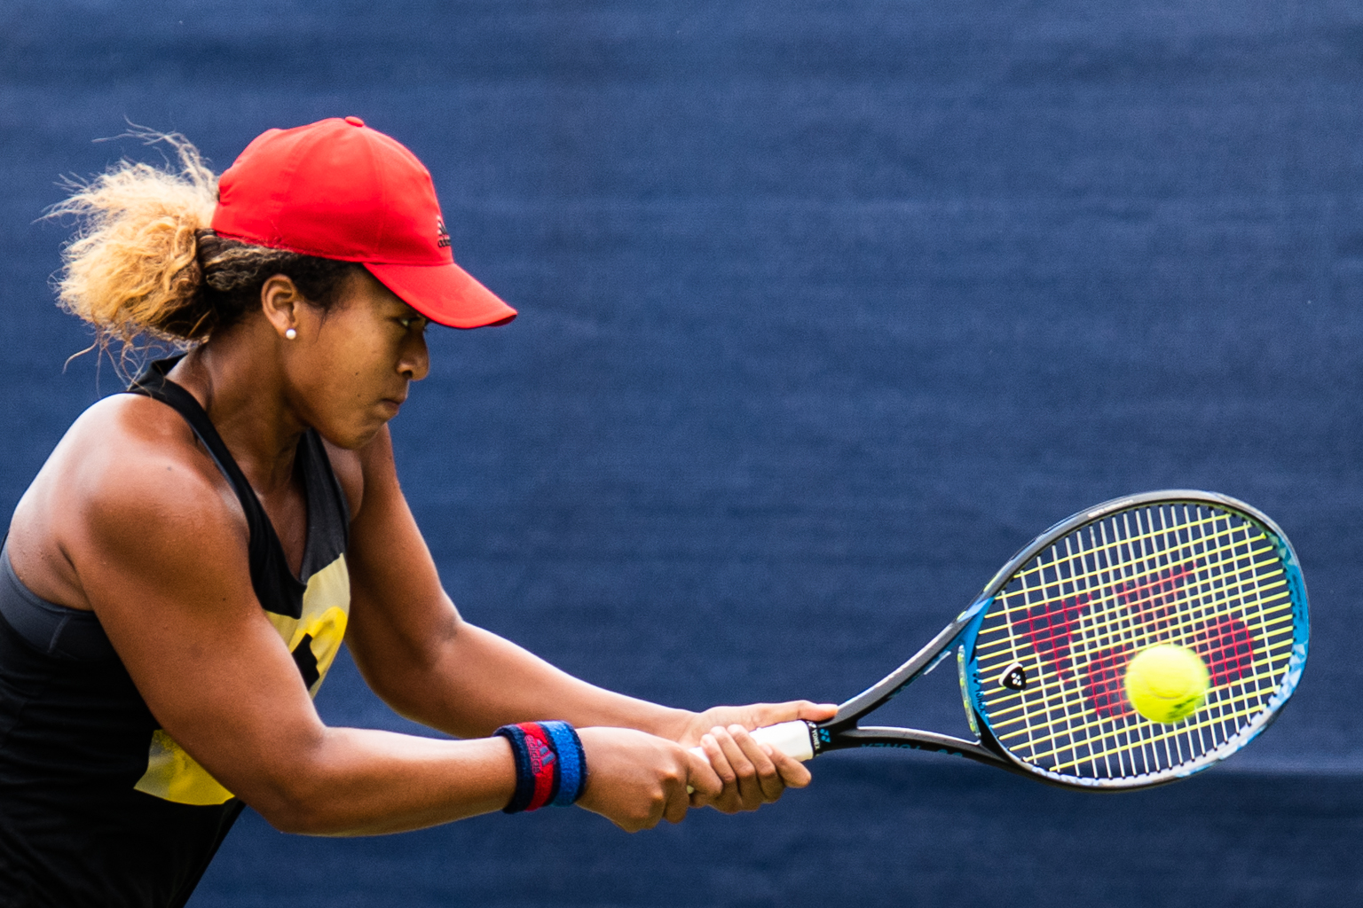
{"label": "woman's hand directly beside the red and blue wristband", "polygon": [[[682,745],[634,728],[578,728],[587,764],[587,787],[578,806],[626,832],[652,829],[658,820],[682,822],[692,798],[722,792],[720,776]],[[695,795],[688,795],[687,788]]]}

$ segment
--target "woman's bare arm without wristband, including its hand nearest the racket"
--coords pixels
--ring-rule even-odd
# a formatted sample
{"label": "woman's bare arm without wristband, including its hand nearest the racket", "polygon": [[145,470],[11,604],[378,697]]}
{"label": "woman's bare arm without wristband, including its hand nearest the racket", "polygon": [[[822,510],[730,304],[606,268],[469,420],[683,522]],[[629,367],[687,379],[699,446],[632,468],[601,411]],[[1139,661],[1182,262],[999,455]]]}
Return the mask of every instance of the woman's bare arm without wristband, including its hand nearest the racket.
{"label": "woman's bare arm without wristband, including its hand nearest the racket", "polygon": [[804,785],[808,771],[752,742],[744,730],[788,719],[819,720],[807,701],[669,709],[596,687],[459,617],[398,486],[387,430],[360,452],[363,500],[352,524],[352,611],[346,643],[369,686],[399,713],[459,736],[510,721],[563,719],[637,728],[702,745],[726,783],[721,810],[752,809]]}

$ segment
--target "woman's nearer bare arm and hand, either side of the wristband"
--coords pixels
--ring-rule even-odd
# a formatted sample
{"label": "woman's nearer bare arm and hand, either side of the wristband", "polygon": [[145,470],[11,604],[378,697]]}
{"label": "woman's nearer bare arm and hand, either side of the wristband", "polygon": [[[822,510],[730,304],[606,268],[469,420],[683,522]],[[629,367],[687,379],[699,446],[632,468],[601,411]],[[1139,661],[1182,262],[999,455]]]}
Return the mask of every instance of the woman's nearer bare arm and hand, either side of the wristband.
{"label": "woman's nearer bare arm and hand, either side of the wristband", "polygon": [[[117,444],[102,429],[67,475],[60,547],[153,715],[189,756],[292,832],[397,832],[510,800],[515,771],[500,738],[327,728],[255,599],[244,517],[215,467],[136,426],[114,432]],[[581,734],[592,772],[581,803],[627,829],[680,820],[687,784],[720,787],[672,742]]]}

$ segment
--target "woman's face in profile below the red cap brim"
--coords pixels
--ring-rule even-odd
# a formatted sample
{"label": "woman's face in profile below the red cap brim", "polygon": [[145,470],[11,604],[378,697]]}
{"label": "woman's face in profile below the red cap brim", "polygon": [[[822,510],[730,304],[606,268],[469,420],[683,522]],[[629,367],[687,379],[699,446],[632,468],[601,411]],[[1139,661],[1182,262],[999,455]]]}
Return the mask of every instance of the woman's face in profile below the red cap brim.
{"label": "woman's face in profile below the red cap brim", "polygon": [[364,268],[342,279],[330,309],[294,306],[294,321],[297,338],[284,344],[289,404],[341,448],[373,438],[431,370],[429,320]]}

